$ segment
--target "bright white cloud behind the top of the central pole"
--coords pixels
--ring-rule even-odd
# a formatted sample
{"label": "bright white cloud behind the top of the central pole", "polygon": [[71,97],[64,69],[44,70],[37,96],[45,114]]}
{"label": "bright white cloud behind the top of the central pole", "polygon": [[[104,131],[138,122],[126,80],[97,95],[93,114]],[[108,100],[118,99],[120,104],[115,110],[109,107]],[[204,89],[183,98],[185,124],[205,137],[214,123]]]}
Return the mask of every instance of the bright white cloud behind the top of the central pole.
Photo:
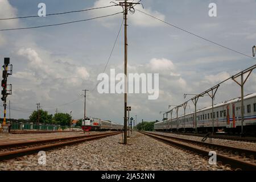
{"label": "bright white cloud behind the top of the central pole", "polygon": [[[110,4],[110,1],[106,0],[98,0],[94,3],[93,7],[102,7],[102,6],[109,6],[109,5],[114,5],[113,3]],[[165,16],[158,11],[152,10],[150,7],[147,9],[143,9],[142,6],[137,5],[136,9],[144,11],[147,14],[150,14],[152,16],[156,16],[159,19],[165,19]],[[96,10],[92,11],[90,13],[92,16],[102,16],[102,15],[108,15],[108,14],[114,14],[122,11],[122,7],[120,6],[114,6],[114,7],[109,7],[106,9],[101,9],[101,10]],[[135,26],[139,27],[158,27],[158,26],[163,26],[162,22],[159,22],[158,20],[152,19],[151,17],[144,15],[140,13],[139,11],[135,11],[135,14],[131,15],[130,13],[128,14],[129,16],[129,22],[131,24],[134,24]],[[121,16],[122,17],[122,16]],[[120,16],[119,16],[120,18]],[[108,17],[107,19],[100,19],[99,21],[104,24],[105,26],[112,26],[115,24],[117,17],[112,16]]]}

